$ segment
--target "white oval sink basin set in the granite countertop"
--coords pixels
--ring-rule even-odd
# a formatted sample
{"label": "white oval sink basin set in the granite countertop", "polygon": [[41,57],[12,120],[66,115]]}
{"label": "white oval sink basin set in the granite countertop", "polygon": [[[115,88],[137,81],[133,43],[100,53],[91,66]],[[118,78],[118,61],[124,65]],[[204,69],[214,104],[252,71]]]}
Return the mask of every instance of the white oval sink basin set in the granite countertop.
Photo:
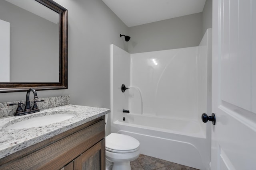
{"label": "white oval sink basin set in the granite countertop", "polygon": [[18,123],[14,123],[6,128],[7,129],[26,129],[30,127],[40,127],[40,126],[50,125],[52,123],[64,121],[74,116],[75,115],[71,113],[44,115],[40,117],[23,120]]}

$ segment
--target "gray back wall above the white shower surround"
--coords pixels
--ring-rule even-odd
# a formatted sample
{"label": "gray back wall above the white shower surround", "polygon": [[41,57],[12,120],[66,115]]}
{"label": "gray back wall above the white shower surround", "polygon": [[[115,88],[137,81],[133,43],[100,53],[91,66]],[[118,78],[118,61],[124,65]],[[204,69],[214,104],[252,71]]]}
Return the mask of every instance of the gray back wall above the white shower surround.
{"label": "gray back wall above the white shower surround", "polygon": [[141,53],[198,46],[202,13],[129,27],[129,52]]}

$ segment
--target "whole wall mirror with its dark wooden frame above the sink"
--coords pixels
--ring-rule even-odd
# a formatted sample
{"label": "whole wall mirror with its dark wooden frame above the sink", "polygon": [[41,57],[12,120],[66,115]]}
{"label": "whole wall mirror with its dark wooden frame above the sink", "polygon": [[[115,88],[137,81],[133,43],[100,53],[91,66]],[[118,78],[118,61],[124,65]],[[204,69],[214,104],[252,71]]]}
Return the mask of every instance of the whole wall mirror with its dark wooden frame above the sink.
{"label": "whole wall mirror with its dark wooden frame above the sink", "polygon": [[53,0],[0,1],[0,93],[68,88],[67,20]]}

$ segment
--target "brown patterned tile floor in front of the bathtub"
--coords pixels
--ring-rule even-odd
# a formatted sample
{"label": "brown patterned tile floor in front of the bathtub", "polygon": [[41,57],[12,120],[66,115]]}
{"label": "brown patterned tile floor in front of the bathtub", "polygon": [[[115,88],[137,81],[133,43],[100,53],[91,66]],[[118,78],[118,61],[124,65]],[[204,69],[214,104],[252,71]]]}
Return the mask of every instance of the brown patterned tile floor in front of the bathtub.
{"label": "brown patterned tile floor in front of the bathtub", "polygon": [[197,170],[188,166],[168,162],[144,154],[131,162],[132,170]]}

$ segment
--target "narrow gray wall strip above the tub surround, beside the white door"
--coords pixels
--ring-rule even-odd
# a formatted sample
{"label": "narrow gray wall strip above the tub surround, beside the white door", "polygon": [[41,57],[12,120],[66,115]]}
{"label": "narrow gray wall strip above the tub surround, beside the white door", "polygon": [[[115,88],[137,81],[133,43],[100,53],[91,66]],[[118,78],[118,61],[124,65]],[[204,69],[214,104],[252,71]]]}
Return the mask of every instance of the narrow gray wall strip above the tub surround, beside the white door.
{"label": "narrow gray wall strip above the tub surround, beside the white door", "polygon": [[212,28],[212,0],[206,0],[202,12],[202,36],[206,29]]}

